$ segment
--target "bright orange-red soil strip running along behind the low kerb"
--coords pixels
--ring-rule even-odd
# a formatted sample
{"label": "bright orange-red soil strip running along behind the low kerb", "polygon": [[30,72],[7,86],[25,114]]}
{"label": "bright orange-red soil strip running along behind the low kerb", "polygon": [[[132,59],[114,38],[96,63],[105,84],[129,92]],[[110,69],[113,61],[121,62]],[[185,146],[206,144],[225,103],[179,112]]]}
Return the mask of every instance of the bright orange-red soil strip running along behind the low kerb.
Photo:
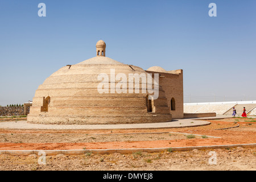
{"label": "bright orange-red soil strip running along behind the low kerb", "polygon": [[[250,143],[250,142],[242,142]],[[93,143],[0,143],[1,150],[81,150],[115,149],[115,148],[162,148],[214,146],[222,144],[241,144],[237,140],[189,139],[189,140],[155,140],[140,142],[93,142]]]}

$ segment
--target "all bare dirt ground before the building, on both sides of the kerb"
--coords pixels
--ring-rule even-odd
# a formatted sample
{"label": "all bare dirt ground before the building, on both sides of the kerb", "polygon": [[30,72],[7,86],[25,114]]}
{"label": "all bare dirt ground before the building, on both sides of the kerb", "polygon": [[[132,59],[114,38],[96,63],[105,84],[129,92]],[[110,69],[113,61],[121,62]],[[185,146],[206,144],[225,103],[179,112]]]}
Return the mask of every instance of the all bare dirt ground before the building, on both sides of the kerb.
{"label": "all bare dirt ground before the building, on both sides of the kerb", "polygon": [[[247,118],[210,120],[200,127],[129,130],[7,130],[0,129],[0,150],[64,150],[157,148],[256,143],[256,122]],[[223,129],[234,127],[232,129]],[[143,134],[141,134],[143,133]],[[148,134],[154,133],[154,134]],[[185,133],[185,134],[184,134]],[[188,134],[195,138],[187,138]],[[196,135],[198,134],[198,135]],[[209,136],[203,137],[202,136]],[[220,137],[220,138],[212,138]],[[214,149],[217,163],[209,164],[211,150],[110,155],[39,156],[0,155],[0,170],[255,170],[256,148]]]}

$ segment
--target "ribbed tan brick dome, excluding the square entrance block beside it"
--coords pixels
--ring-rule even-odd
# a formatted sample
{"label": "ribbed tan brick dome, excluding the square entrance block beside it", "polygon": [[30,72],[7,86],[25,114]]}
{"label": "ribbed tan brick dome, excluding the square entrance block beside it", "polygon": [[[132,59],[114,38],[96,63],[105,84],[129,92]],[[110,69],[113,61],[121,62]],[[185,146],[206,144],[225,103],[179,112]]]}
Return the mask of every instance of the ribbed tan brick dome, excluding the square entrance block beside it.
{"label": "ribbed tan brick dome, excluding the square entrance block beside it", "polygon": [[[113,70],[115,75],[122,73],[127,78],[129,73],[146,74],[142,68],[105,56],[62,67],[36,90],[28,122],[85,125],[171,121],[170,108],[161,86],[159,98],[152,101],[151,110],[148,110],[150,94],[147,92],[99,93],[98,85],[102,80],[98,80],[98,76],[105,73],[110,78]],[[118,82],[115,79],[115,85]],[[140,84],[142,91],[141,88]]]}

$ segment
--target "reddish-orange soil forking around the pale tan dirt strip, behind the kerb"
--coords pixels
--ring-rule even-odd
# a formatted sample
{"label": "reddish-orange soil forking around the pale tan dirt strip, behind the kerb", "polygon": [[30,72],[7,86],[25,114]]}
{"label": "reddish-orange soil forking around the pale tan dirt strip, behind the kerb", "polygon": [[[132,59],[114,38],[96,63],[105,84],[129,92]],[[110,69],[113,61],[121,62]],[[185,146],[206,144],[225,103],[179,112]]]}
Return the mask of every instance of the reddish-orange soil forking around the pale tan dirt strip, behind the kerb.
{"label": "reddish-orange soil forking around the pale tan dirt strip, behind the kerb", "polygon": [[[232,120],[233,119],[233,120]],[[128,142],[88,142],[88,143],[0,143],[0,150],[71,150],[71,149],[106,149],[106,148],[161,148],[161,147],[188,147],[212,146],[223,144],[256,143],[256,123],[236,121],[237,118],[221,119],[207,126],[188,127],[179,129],[133,129],[133,130],[0,130],[0,133],[83,133],[83,134],[127,134],[127,133],[155,133],[155,132],[180,132],[190,134],[208,135],[221,138],[197,138],[180,140],[145,140]],[[246,119],[244,119],[246,120]],[[236,122],[236,123],[234,123]],[[228,130],[214,130],[233,127]]]}

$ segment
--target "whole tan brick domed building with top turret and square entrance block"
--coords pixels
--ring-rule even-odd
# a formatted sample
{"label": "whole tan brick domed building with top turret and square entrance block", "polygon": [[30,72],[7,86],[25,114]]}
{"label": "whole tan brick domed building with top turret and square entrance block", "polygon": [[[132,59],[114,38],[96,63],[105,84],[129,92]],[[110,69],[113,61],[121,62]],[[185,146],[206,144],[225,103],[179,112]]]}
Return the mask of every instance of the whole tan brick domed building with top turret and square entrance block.
{"label": "whole tan brick domed building with top turret and square entrance block", "polygon": [[[147,71],[134,65],[127,65],[106,57],[106,44],[100,40],[96,44],[96,57],[75,65],[67,65],[49,76],[35,92],[28,122],[41,124],[119,124],[168,122],[172,118],[183,118],[183,72],[166,71],[160,67],[151,67]],[[114,73],[114,82],[113,82]],[[154,86],[159,88],[159,96],[151,100],[152,92],[143,89],[130,75],[152,75]],[[155,73],[159,80],[154,80]],[[116,90],[125,80],[115,76],[129,78],[122,84],[122,93]],[[104,80],[104,76],[109,80]],[[111,82],[112,81],[112,82]],[[130,92],[133,83],[138,92]],[[99,92],[102,86],[104,92]],[[139,88],[137,88],[139,86]],[[125,92],[124,92],[125,91]]]}

